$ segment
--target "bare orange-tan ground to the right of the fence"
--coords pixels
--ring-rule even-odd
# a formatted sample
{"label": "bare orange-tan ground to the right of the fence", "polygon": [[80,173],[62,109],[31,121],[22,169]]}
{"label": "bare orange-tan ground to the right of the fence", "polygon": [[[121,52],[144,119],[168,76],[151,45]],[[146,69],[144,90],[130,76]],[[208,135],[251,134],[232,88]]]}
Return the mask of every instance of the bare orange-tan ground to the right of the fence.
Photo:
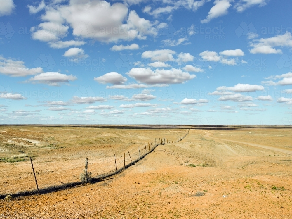
{"label": "bare orange-tan ground to the right of the fence", "polygon": [[190,130],[181,142],[160,145],[96,184],[1,200],[0,218],[292,218],[291,155],[239,143],[290,148],[290,130],[210,133],[215,139]]}

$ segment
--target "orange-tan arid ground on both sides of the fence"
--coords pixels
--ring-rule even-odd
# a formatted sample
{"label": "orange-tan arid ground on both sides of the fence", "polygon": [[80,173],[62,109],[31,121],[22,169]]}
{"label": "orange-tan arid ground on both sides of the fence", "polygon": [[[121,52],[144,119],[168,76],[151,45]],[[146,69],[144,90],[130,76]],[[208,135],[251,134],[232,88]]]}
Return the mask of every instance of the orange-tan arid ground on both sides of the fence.
{"label": "orange-tan arid ground on both sides of the fence", "polygon": [[[79,180],[86,157],[94,176],[115,169],[114,154],[121,167],[128,150],[134,159],[138,147],[145,154],[145,144],[153,144],[155,137],[175,141],[186,132],[1,127],[0,193],[35,188],[26,156],[33,157],[39,186],[44,187]],[[290,128],[190,130],[182,141],[159,145],[135,165],[100,182],[2,199],[0,218],[290,219],[291,139]],[[128,156],[126,162],[131,162]]]}

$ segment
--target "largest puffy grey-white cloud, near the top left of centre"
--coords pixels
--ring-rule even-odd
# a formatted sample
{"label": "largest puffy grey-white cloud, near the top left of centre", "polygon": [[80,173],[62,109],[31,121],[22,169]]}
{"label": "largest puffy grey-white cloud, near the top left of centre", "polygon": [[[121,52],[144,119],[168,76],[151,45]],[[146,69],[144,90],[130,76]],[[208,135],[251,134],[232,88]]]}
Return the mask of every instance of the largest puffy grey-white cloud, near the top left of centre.
{"label": "largest puffy grey-white cloud, near the top left of centre", "polygon": [[134,10],[129,12],[125,4],[110,4],[102,0],[70,0],[65,4],[55,1],[46,6],[41,20],[43,23],[32,28],[32,38],[44,42],[60,41],[67,36],[69,27],[76,37],[102,42],[146,39],[146,35],[156,36],[158,32],[156,22],[140,18]]}

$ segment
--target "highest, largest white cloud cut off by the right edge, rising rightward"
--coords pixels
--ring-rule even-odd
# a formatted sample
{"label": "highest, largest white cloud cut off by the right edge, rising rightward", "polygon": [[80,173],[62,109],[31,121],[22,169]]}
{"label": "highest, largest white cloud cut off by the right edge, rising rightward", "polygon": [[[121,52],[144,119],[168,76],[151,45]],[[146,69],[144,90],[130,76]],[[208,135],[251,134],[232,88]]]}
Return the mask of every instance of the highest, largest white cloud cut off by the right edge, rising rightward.
{"label": "highest, largest white cloud cut off by the right edge, rising rightward", "polygon": [[252,54],[282,54],[281,49],[275,49],[274,47],[292,48],[292,36],[290,32],[286,32],[283,35],[277,35],[275,37],[254,39],[250,42],[250,46],[253,47],[250,50]]}

